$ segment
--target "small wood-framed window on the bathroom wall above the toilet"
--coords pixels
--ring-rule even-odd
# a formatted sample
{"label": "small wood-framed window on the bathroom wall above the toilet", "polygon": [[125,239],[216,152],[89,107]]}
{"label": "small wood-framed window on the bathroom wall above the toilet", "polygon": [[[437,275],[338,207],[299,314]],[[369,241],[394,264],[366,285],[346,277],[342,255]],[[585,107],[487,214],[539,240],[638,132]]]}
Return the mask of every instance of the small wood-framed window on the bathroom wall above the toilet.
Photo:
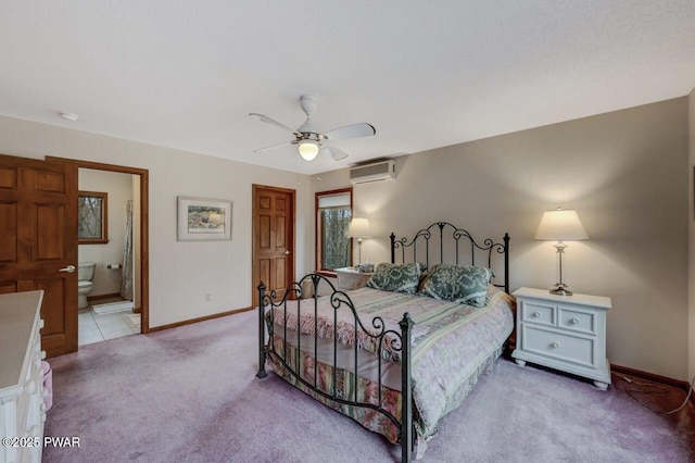
{"label": "small wood-framed window on the bathroom wall above the toilet", "polygon": [[109,242],[109,193],[77,192],[77,243],[105,245]]}

